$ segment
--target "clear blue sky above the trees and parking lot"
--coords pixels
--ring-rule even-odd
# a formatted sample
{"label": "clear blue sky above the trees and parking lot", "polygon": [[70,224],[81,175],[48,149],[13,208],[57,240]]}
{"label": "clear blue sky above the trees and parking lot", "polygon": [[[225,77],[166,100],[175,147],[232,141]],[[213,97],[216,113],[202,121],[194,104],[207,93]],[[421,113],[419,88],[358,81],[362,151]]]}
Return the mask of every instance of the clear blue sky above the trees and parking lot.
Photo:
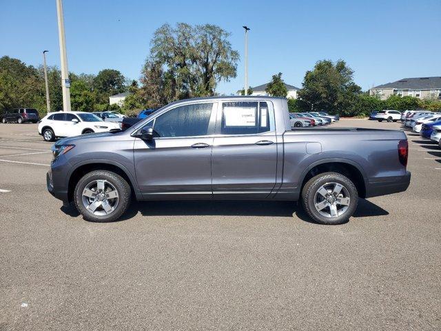
{"label": "clear blue sky above the trees and parking lot", "polygon": [[[214,23],[243,56],[249,32],[249,85],[283,72],[301,87],[320,59],[344,59],[364,90],[404,77],[441,76],[441,1],[111,1],[64,0],[69,70],[120,70],[138,79],[150,39],[163,23]],[[55,0],[0,0],[0,57],[59,66]],[[217,91],[243,87],[238,75]]]}

